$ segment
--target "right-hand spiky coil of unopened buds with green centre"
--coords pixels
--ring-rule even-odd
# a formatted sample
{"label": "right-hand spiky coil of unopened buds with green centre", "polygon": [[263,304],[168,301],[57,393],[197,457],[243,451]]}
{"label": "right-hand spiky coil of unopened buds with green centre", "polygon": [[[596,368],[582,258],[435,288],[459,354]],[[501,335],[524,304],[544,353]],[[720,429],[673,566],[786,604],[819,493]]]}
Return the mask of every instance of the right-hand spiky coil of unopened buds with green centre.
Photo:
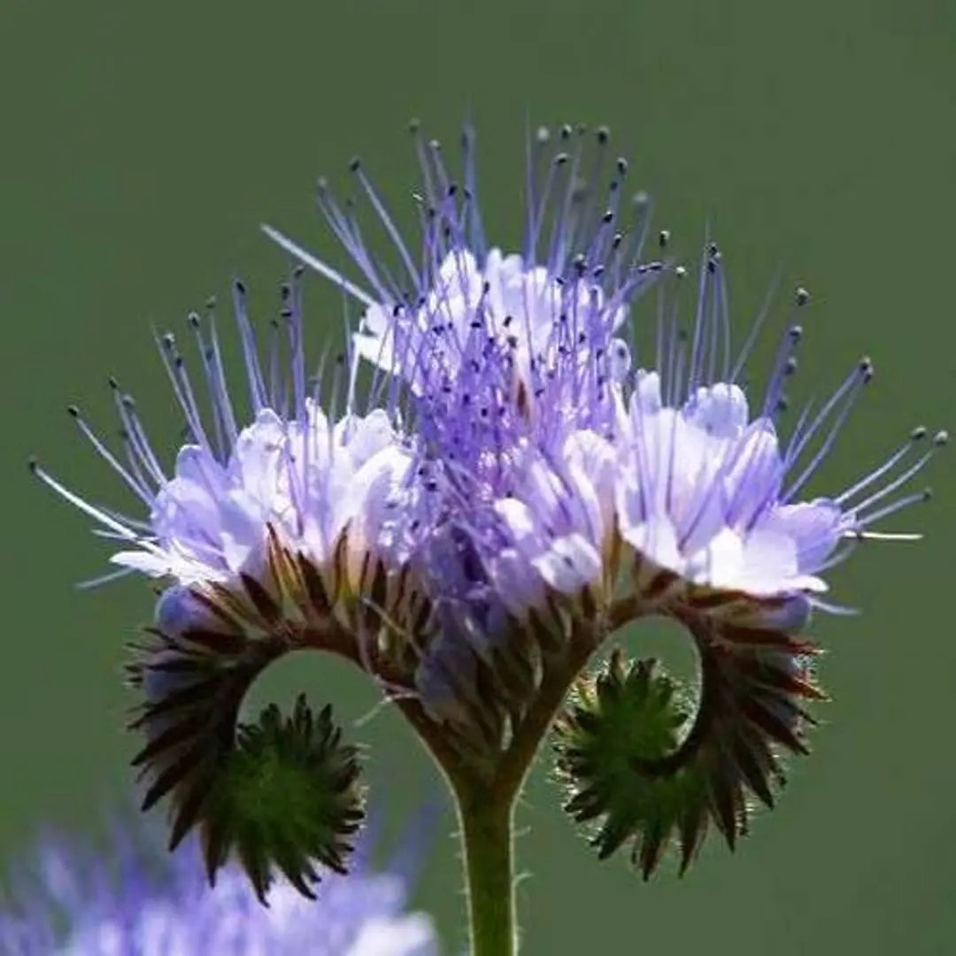
{"label": "right-hand spiky coil of unopened buds with green centre", "polygon": [[750,794],[774,804],[779,750],[807,752],[801,728],[812,718],[799,701],[822,697],[807,674],[813,648],[771,632],[734,637],[695,633],[702,686],[692,722],[687,695],[655,662],[627,663],[615,651],[578,682],[555,724],[566,810],[578,822],[600,820],[592,837],[600,858],[633,839],[631,861],[645,880],[672,842],[683,874],[711,823],[732,850],[747,832]]}

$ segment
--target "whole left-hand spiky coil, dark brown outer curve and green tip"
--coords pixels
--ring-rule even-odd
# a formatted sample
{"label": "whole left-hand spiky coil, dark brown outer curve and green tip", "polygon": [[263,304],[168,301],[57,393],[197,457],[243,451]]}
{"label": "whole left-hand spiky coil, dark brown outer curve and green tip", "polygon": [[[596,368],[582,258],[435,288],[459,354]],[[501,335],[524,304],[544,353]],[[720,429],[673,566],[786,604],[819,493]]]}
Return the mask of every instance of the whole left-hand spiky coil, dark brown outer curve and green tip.
{"label": "whole left-hand spiky coil, dark brown outer curve and green tip", "polygon": [[132,723],[146,737],[133,759],[143,810],[168,797],[170,850],[198,828],[210,881],[235,849],[260,899],[273,865],[312,896],[314,862],[341,871],[362,818],[358,752],[329,707],[314,717],[304,699],[288,720],[270,707],[238,724],[255,677],[293,649],[289,635],[249,637],[215,618],[149,633],[129,666],[144,698]]}

